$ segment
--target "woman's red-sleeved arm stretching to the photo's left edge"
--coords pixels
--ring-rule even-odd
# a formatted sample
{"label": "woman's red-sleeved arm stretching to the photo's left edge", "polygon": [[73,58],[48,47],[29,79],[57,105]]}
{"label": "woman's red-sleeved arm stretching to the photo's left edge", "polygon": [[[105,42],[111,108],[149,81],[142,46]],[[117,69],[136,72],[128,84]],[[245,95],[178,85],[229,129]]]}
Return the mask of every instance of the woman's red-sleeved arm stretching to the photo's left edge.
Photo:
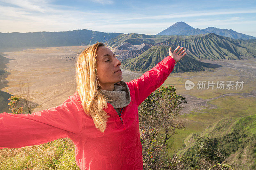
{"label": "woman's red-sleeved arm stretching to the photo's left edge", "polygon": [[82,119],[73,99],[32,114],[0,114],[0,148],[40,145],[59,138],[79,136]]}

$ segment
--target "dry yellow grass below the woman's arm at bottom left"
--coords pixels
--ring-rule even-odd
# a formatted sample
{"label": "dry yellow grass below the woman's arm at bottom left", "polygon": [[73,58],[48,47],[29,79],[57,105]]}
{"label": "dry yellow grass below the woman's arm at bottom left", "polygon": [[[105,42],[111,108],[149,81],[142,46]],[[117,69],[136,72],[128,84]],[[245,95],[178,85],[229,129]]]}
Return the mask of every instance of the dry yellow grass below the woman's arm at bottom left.
{"label": "dry yellow grass below the woman's arm at bottom left", "polygon": [[42,145],[0,149],[0,169],[79,169],[74,150],[74,143],[69,138]]}

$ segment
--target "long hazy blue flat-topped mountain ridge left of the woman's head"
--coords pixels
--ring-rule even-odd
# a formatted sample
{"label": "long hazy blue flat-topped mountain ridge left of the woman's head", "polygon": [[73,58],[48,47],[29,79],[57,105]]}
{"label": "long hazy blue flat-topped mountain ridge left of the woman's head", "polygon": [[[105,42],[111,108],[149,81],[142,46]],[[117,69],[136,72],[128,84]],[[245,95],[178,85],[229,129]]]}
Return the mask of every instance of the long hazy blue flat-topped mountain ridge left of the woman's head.
{"label": "long hazy blue flat-topped mountain ridge left of the woman's head", "polygon": [[0,49],[20,47],[82,46],[106,42],[122,33],[73,30],[66,32],[0,33]]}

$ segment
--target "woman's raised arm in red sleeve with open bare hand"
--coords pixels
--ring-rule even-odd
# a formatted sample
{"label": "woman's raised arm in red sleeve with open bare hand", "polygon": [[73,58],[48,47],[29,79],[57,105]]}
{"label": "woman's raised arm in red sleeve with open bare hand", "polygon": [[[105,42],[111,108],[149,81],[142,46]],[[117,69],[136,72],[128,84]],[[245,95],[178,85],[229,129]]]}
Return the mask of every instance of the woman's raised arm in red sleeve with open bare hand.
{"label": "woman's raised arm in red sleeve with open bare hand", "polygon": [[[178,46],[173,52],[169,48],[169,55],[156,64],[155,67],[142,74],[140,78],[127,82],[134,87],[138,106],[158,87],[160,87],[171,74],[175,63],[186,55],[183,47]],[[183,51],[182,51],[183,50]]]}

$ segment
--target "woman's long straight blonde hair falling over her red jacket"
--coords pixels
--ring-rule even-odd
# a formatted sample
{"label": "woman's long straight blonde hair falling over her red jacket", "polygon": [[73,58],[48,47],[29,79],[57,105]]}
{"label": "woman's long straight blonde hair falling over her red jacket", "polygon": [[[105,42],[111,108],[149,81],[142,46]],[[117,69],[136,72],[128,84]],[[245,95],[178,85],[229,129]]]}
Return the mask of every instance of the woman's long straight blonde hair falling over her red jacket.
{"label": "woman's long straight blonde hair falling over her red jacket", "polygon": [[81,107],[92,117],[95,127],[104,133],[109,116],[103,110],[107,107],[107,98],[100,93],[97,77],[96,57],[100,46],[105,45],[95,43],[79,54],[76,61],[76,91],[81,98]]}

